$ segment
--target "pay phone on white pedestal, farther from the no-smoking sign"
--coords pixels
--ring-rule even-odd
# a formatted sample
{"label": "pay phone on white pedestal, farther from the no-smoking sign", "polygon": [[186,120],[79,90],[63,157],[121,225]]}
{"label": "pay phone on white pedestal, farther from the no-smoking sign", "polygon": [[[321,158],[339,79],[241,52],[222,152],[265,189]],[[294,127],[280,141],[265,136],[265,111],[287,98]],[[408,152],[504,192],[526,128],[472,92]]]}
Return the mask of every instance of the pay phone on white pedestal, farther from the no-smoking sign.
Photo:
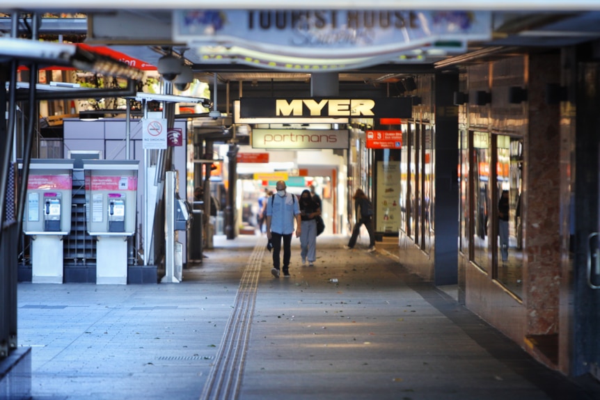
{"label": "pay phone on white pedestal, farther from the no-smoking sign", "polygon": [[73,163],[66,159],[29,163],[23,232],[32,239],[33,283],[63,283],[63,237],[71,231]]}

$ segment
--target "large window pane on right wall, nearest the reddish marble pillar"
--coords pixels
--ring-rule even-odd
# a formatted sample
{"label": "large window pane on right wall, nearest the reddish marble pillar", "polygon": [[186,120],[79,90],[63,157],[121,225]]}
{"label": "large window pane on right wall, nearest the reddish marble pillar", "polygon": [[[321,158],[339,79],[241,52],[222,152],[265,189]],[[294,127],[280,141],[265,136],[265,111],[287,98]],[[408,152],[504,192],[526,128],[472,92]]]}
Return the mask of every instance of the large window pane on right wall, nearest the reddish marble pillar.
{"label": "large window pane on right wall, nearest the reddish marble pillar", "polygon": [[523,141],[498,136],[498,281],[522,296],[523,227],[521,226],[521,177]]}

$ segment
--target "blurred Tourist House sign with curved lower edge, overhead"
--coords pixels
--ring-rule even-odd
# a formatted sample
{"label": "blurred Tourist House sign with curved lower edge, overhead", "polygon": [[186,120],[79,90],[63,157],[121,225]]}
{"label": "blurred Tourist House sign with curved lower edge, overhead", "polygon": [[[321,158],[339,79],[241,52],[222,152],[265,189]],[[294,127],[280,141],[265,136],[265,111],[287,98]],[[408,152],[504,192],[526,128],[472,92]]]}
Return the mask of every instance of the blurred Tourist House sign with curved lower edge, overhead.
{"label": "blurred Tourist House sign with curved lower edge, overhead", "polygon": [[491,38],[489,11],[175,10],[173,19],[173,40],[200,47],[207,63],[281,70],[411,61]]}

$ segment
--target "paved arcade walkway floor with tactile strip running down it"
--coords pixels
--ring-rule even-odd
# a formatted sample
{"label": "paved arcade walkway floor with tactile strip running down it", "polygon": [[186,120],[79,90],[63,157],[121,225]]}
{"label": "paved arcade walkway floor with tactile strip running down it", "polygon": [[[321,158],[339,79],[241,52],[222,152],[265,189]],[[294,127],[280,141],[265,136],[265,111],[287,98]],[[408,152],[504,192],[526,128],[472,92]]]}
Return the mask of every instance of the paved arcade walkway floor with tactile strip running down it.
{"label": "paved arcade walkway floor with tactile strip running down it", "polygon": [[[19,284],[33,399],[600,399],[407,273],[393,245],[292,241],[273,278],[265,237],[216,237],[179,284]],[[357,246],[358,247],[358,246]],[[395,250],[397,251],[397,250]]]}

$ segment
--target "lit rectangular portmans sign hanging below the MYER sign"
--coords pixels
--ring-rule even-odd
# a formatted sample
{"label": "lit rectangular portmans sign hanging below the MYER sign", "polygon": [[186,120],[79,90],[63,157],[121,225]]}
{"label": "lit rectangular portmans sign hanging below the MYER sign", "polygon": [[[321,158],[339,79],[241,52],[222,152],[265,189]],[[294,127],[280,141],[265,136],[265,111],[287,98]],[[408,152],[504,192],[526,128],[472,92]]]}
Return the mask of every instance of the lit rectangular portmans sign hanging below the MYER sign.
{"label": "lit rectangular portmans sign hanging below the MYER sign", "polygon": [[252,129],[252,147],[259,149],[347,149],[345,129]]}

